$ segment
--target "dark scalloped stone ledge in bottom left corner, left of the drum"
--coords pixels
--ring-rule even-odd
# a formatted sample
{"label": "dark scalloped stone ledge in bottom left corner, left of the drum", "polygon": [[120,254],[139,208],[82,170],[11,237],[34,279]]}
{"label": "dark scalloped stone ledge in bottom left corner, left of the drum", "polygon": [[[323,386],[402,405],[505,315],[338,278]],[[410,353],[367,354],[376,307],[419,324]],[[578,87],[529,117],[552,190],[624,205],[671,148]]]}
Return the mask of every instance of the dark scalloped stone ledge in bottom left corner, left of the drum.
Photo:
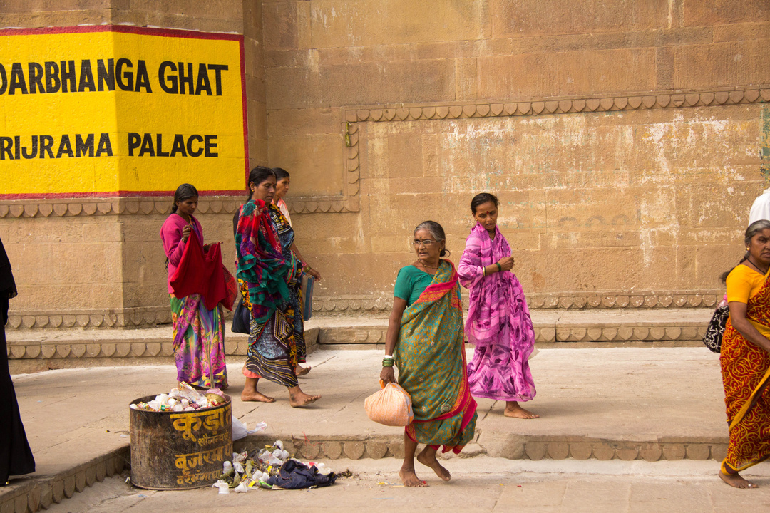
{"label": "dark scalloped stone ledge in bottom left corner, left of the drum", "polygon": [[0,511],[5,513],[35,513],[59,504],[86,486],[120,474],[131,466],[130,446],[110,451],[91,461],[67,468],[55,475],[32,474],[0,488]]}

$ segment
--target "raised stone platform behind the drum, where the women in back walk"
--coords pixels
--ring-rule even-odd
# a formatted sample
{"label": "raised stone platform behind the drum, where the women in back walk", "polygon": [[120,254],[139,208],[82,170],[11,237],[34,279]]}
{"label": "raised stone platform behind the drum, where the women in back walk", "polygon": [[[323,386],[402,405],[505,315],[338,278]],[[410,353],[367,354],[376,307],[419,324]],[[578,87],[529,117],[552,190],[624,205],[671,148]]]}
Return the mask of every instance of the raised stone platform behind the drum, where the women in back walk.
{"label": "raised stone platform behind the drum, where the women in back walk", "polygon": [[[300,384],[323,398],[309,408],[291,408],[286,390],[269,382],[259,389],[276,403],[243,403],[240,365],[228,365],[234,414],[249,427],[258,421],[269,426],[237,447],[280,438],[304,458],[400,456],[403,430],[371,422],[363,410],[363,399],[379,388],[381,358],[381,351],[371,350],[314,352],[313,371]],[[718,355],[705,348],[542,349],[531,367],[537,397],[527,407],[541,418],[505,418],[502,404],[481,399],[477,439],[464,456],[657,461],[721,459],[726,450]],[[33,477],[60,478],[75,468],[75,487],[89,478],[89,468],[98,468],[99,458],[125,458],[129,401],[168,391],[175,377],[171,365],[15,376],[38,461]],[[119,470],[114,461],[109,465]],[[68,495],[72,487],[62,485]]]}

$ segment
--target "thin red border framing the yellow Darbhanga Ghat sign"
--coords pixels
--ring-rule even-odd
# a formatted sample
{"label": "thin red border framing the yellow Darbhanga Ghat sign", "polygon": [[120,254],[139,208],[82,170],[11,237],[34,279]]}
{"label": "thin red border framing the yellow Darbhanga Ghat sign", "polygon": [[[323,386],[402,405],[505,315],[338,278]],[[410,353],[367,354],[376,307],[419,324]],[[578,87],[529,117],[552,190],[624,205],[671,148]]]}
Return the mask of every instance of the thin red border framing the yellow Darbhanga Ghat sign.
{"label": "thin red border framing the yellow Darbhanga Ghat sign", "polygon": [[[246,55],[243,48],[243,35],[219,34],[214,32],[195,32],[178,30],[176,28],[144,28],[130,25],[82,25],[77,27],[43,27],[43,28],[3,28],[0,35],[42,35],[42,34],[82,34],[88,32],[120,32],[123,34],[157,35],[161,37],[190,38],[190,39],[219,39],[236,41],[239,46],[241,67],[241,96],[243,98],[243,158],[244,186],[243,189],[228,189],[225,191],[201,191],[202,196],[236,196],[246,191],[246,179],[249,177],[249,118],[246,111]],[[137,196],[167,196],[173,191],[117,191],[117,192],[57,192],[30,194],[0,194],[3,199],[42,199],[42,198],[115,198]]]}

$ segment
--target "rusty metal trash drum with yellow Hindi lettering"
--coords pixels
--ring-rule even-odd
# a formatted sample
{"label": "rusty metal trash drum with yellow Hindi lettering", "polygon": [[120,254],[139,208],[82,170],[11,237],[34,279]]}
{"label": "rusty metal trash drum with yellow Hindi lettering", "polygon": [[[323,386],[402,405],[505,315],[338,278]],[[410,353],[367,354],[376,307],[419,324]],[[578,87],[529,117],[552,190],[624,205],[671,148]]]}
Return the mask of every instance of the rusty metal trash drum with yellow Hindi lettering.
{"label": "rusty metal trash drum with yellow Hindi lettering", "polygon": [[[149,402],[154,395],[131,401]],[[213,485],[233,457],[233,410],[229,395],[213,408],[145,411],[129,408],[131,483],[148,490]]]}

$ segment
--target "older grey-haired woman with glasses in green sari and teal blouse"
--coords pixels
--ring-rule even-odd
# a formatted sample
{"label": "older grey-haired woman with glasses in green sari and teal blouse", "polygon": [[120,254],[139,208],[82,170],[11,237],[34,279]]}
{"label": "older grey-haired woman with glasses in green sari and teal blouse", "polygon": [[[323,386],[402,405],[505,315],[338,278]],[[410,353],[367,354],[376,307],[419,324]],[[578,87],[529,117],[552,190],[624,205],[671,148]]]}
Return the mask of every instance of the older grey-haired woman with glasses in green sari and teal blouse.
{"label": "older grey-haired woman with glasses in green sari and teal blouse", "polygon": [[417,461],[444,481],[451,475],[436,458],[459,453],[474,437],[476,401],[470,396],[466,375],[463,308],[457,271],[447,254],[444,228],[426,221],[414,230],[417,261],[398,271],[393,311],[388,322],[385,358],[380,379],[396,381],[412,397],[414,421],[404,436],[403,465],[406,486],[427,486],[414,471],[417,444],[427,444]]}

